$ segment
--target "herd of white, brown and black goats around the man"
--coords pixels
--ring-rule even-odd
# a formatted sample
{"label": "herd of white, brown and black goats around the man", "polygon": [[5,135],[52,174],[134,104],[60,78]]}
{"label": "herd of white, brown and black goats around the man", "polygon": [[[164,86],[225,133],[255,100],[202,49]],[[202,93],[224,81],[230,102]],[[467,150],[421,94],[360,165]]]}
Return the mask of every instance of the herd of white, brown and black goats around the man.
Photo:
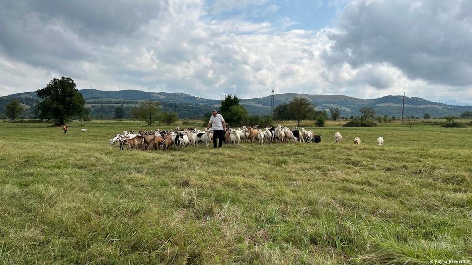
{"label": "herd of white, brown and black goats around the man", "polygon": [[[334,142],[339,143],[342,139],[342,135],[339,132],[334,134]],[[120,149],[123,150],[124,146],[128,150],[132,149],[162,149],[169,150],[170,147],[175,146],[177,150],[181,150],[184,146],[196,146],[199,143],[204,143],[208,146],[213,141],[213,131],[211,129],[205,129],[200,131],[197,128],[188,128],[180,130],[177,127],[176,130],[171,131],[139,131],[139,133],[126,132],[116,134],[116,136],[110,139],[110,144],[118,143]],[[238,145],[240,142],[258,142],[259,144],[272,143],[272,142],[315,142],[321,141],[321,134],[315,134],[313,131],[307,131],[305,128],[299,130],[297,127],[290,130],[287,127],[266,127],[265,130],[258,129],[257,127],[246,127],[233,129],[230,128],[225,133],[225,141],[229,144]],[[355,144],[360,144],[361,139],[356,137],[354,139]],[[379,137],[377,139],[378,145],[384,145],[384,138]]]}

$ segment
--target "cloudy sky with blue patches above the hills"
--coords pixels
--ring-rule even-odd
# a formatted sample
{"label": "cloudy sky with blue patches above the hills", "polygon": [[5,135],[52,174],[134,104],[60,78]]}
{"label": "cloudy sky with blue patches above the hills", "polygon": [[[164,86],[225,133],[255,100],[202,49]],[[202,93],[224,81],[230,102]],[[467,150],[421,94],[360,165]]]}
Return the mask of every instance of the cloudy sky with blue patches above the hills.
{"label": "cloudy sky with blue patches above the hills", "polygon": [[0,0],[0,96],[79,89],[472,105],[471,0]]}

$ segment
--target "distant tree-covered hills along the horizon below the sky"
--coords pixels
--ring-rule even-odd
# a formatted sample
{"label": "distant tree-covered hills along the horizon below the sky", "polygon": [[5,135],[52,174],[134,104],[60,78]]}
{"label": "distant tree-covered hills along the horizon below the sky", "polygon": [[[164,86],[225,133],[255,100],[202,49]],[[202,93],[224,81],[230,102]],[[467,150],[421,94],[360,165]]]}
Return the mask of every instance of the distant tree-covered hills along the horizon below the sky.
{"label": "distant tree-covered hills along the horizon below the sky", "polygon": [[[92,118],[113,118],[116,106],[123,104],[125,112],[143,100],[155,100],[161,103],[162,110],[175,111],[180,118],[202,118],[212,110],[217,109],[220,100],[205,99],[184,93],[146,92],[141,90],[102,91],[96,89],[81,89],[79,92],[85,98],[86,107]],[[401,116],[402,96],[385,96],[375,99],[359,99],[343,95],[309,95],[297,93],[277,94],[274,96],[274,105],[290,102],[294,97],[305,97],[317,108],[328,110],[339,107],[341,116],[349,117],[359,114],[362,107],[373,107],[377,116]],[[23,118],[33,118],[34,105],[39,100],[36,92],[11,94],[0,97],[0,112],[11,99],[18,98],[24,104]],[[249,113],[270,114],[270,96],[262,98],[241,99]],[[405,97],[405,117],[422,118],[425,113],[431,117],[459,116],[465,111],[472,111],[472,106],[448,105],[432,102],[417,97]]]}

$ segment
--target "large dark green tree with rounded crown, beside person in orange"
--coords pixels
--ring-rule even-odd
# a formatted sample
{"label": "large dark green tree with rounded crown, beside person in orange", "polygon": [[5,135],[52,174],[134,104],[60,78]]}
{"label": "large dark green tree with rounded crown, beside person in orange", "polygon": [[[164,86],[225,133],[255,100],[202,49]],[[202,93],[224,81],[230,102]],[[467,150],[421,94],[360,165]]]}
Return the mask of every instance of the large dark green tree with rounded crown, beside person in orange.
{"label": "large dark green tree with rounded crown, beside person in orange", "polygon": [[54,119],[56,124],[79,117],[85,113],[85,100],[77,90],[77,85],[70,77],[54,78],[37,94],[43,101],[36,103],[35,114],[40,119]]}

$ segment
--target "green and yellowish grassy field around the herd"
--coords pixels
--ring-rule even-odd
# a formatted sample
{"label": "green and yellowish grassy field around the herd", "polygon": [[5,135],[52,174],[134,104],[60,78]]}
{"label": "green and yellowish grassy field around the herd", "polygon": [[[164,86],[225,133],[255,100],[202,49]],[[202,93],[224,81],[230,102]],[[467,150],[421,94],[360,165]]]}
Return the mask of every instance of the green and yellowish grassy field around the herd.
{"label": "green and yellowish grassy field around the herd", "polygon": [[162,152],[110,146],[139,123],[47,126],[0,123],[3,264],[472,262],[470,127]]}

